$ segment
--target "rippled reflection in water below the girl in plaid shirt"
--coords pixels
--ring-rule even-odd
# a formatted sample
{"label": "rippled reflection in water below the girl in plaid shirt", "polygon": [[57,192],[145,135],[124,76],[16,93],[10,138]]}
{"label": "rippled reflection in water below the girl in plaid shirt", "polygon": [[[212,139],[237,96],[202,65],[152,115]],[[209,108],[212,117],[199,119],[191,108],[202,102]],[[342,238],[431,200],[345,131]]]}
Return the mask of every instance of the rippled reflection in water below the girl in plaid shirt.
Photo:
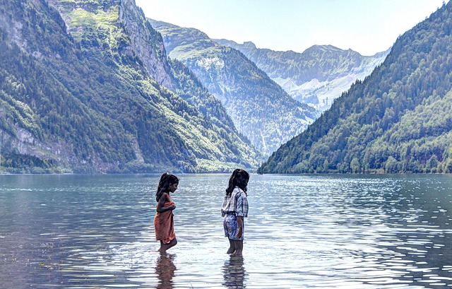
{"label": "rippled reflection in water below the girl in plaid shirt", "polygon": [[222,268],[225,285],[229,289],[243,289],[246,287],[245,276],[246,271],[243,266],[243,256],[230,256],[229,260],[225,261],[225,266]]}

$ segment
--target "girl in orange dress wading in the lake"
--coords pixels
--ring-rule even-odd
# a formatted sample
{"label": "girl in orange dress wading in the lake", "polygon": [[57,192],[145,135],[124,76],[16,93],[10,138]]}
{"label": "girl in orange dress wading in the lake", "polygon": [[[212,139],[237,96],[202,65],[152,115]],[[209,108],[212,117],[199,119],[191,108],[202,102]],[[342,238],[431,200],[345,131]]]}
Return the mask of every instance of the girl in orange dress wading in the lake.
{"label": "girl in orange dress wading in the lake", "polygon": [[174,215],[172,210],[176,204],[171,200],[170,193],[174,193],[179,185],[179,178],[175,175],[164,172],[158,183],[155,199],[157,200],[157,213],[154,218],[155,239],[160,241],[160,253],[167,252],[167,249],[177,244],[176,233],[174,232]]}

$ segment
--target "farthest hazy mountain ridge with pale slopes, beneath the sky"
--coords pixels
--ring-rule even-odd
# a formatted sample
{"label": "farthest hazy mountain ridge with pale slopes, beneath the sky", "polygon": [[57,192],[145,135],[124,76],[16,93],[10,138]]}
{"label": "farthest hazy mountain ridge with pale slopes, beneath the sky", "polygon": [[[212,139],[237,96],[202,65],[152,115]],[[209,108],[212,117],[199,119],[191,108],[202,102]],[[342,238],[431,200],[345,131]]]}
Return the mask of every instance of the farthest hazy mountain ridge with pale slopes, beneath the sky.
{"label": "farthest hazy mountain ridge with pale slopes, beneath the sky", "polygon": [[253,42],[214,41],[239,50],[292,98],[321,111],[328,110],[333,100],[357,79],[363,80],[368,76],[391,50],[367,57],[351,49],[343,50],[331,45],[314,45],[297,53],[258,49]]}

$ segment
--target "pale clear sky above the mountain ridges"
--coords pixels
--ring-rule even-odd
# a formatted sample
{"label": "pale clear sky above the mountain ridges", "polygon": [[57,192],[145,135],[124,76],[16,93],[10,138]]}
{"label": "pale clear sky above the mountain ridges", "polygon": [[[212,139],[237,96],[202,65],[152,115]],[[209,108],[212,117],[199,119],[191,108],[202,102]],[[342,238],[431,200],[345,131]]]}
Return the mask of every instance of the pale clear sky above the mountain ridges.
{"label": "pale clear sky above the mountain ridges", "polygon": [[196,28],[214,39],[295,52],[333,45],[373,55],[391,47],[443,0],[136,0],[136,4],[148,18]]}

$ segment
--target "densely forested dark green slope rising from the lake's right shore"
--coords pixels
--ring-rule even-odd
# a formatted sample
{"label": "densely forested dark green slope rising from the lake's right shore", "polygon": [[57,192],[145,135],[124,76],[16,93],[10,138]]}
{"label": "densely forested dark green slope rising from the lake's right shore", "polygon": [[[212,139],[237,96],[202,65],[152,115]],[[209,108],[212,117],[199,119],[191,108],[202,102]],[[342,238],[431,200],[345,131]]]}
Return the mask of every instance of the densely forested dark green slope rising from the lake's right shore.
{"label": "densely forested dark green slope rising from the lake's right shore", "polygon": [[258,170],[452,172],[452,2]]}

